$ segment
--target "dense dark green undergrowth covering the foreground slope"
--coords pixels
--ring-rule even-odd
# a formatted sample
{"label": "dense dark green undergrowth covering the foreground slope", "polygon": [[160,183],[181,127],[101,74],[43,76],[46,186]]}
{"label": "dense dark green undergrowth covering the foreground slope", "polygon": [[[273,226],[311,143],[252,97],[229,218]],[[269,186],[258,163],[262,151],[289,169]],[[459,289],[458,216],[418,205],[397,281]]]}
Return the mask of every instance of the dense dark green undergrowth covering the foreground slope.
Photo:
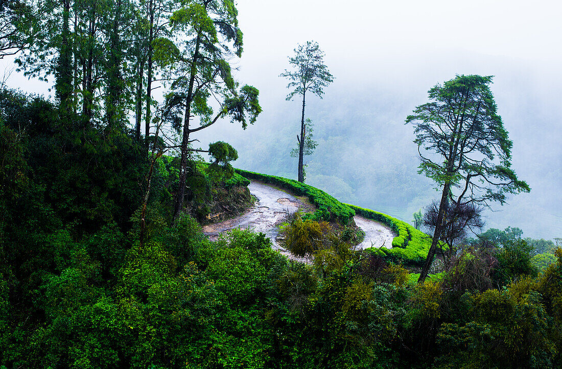
{"label": "dense dark green undergrowth covering the foreground slope", "polygon": [[[524,240],[474,245],[417,285],[398,259],[332,235],[304,265],[264,235],[209,242],[188,215],[171,225],[172,158],[158,161],[140,243],[152,159],[134,131],[84,127],[10,91],[0,107],[0,366],[560,365],[560,250],[537,274]],[[213,186],[193,176],[194,198]],[[334,216],[353,212],[307,191]],[[398,232],[406,252],[419,242]]]}

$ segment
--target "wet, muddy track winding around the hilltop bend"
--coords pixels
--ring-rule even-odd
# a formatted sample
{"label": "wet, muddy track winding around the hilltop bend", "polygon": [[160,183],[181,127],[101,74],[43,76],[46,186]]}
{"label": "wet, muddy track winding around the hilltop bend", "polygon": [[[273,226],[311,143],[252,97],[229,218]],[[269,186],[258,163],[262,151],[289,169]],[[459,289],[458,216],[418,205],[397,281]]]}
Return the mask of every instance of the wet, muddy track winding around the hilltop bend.
{"label": "wet, muddy track winding around the hilltop bend", "polygon": [[[278,249],[282,254],[294,259],[278,242],[277,225],[282,223],[289,213],[293,213],[299,208],[310,210],[311,204],[260,181],[252,180],[248,189],[257,199],[254,206],[241,216],[204,226],[203,234],[209,236],[211,240],[216,240],[221,233],[228,230],[250,227],[256,232],[265,233],[271,239],[274,249]],[[384,247],[392,247],[392,239],[396,235],[389,227],[360,216],[355,216],[354,219],[357,226],[365,232],[365,239],[356,248],[380,247],[383,244]]]}

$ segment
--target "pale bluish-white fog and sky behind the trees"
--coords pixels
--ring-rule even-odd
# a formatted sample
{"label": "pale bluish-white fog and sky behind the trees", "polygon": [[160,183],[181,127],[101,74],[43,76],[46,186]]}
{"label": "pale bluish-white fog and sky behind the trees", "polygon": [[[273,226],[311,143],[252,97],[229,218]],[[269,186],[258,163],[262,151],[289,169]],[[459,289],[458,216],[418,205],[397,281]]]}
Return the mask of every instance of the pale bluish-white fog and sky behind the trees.
{"label": "pale bluish-white fog and sky behind the trees", "polygon": [[[562,6],[550,1],[239,0],[244,54],[237,79],[260,90],[263,112],[245,131],[219,122],[201,146],[225,140],[235,166],[296,178],[289,157],[300,102],[287,102],[279,74],[297,43],[315,40],[336,80],[323,99],[307,96],[316,152],[306,182],[341,201],[405,221],[438,193],[419,175],[413,126],[404,120],[427,90],[456,74],[493,75],[498,113],[513,140],[513,168],[531,193],[493,204],[486,228],[520,227],[533,238],[562,236],[560,130]],[[46,93],[12,74],[10,84]]]}

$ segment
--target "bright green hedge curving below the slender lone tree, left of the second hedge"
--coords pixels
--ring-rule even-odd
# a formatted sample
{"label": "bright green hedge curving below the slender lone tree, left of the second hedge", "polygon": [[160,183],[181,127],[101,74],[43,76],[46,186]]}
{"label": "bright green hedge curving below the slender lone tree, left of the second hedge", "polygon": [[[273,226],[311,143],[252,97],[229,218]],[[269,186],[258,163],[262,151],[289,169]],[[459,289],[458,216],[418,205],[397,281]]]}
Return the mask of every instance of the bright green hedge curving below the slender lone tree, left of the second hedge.
{"label": "bright green hedge curving below the slender lone tree, left of the second hedge", "polygon": [[[332,196],[328,195],[322,190],[314,188],[304,183],[292,179],[286,179],[277,176],[271,176],[267,174],[250,172],[247,170],[237,169],[238,174],[248,178],[264,181],[265,183],[271,183],[300,196],[306,195],[312,203],[314,203],[318,209],[312,215],[311,220],[329,220],[337,219],[343,224],[350,222],[351,218],[355,216],[355,211],[351,209],[346,204],[334,199]],[[328,218],[329,215],[329,218]]]}

